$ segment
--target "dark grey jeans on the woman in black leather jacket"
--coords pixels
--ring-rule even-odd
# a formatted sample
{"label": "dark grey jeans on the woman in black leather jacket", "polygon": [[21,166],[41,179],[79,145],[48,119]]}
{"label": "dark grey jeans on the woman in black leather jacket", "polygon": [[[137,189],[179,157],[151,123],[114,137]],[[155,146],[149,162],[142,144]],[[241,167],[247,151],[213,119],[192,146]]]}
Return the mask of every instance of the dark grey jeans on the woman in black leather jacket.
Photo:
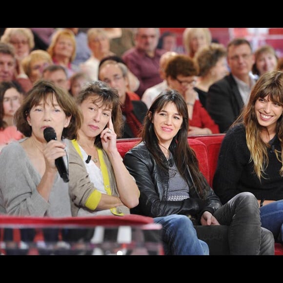
{"label": "dark grey jeans on the woman in black leather jacket", "polygon": [[261,227],[259,204],[253,194],[236,195],[214,216],[221,225],[195,226],[210,255],[274,255],[273,234]]}

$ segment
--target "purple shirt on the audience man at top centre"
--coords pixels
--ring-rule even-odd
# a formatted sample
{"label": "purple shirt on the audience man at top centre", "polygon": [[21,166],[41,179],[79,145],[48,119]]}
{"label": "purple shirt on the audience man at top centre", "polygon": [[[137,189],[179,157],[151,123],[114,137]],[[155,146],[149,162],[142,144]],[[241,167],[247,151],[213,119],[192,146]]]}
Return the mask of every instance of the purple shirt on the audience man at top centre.
{"label": "purple shirt on the audience man at top centre", "polygon": [[162,82],[159,75],[159,61],[165,52],[165,50],[156,49],[154,57],[151,58],[144,51],[133,47],[123,54],[123,61],[140,81],[140,86],[135,91],[140,97],[147,88]]}

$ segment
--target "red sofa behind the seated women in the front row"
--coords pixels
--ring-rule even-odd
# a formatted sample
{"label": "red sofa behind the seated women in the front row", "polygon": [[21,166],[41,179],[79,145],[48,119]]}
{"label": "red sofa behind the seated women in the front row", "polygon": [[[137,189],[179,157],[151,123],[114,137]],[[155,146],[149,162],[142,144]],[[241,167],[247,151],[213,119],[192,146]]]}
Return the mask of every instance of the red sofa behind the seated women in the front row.
{"label": "red sofa behind the seated women in the front row", "polygon": [[[194,149],[199,160],[200,170],[211,187],[223,137],[224,134],[188,137],[188,144]],[[125,153],[139,141],[140,139],[117,140],[117,148],[121,157],[123,158]],[[283,244],[275,243],[275,255],[283,255]]]}

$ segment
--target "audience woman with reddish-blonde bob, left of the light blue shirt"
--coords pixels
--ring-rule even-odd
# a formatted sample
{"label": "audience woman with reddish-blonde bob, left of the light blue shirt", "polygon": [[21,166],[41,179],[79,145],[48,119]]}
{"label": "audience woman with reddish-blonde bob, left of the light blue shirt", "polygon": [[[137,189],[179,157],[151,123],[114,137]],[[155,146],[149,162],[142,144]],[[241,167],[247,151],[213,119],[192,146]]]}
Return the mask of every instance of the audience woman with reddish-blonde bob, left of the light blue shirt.
{"label": "audience woman with reddish-blonde bob, left of the light blue shirt", "polygon": [[76,48],[75,35],[68,29],[56,30],[47,48],[54,64],[61,65],[66,69],[68,79],[79,71],[79,67],[72,63],[76,57]]}

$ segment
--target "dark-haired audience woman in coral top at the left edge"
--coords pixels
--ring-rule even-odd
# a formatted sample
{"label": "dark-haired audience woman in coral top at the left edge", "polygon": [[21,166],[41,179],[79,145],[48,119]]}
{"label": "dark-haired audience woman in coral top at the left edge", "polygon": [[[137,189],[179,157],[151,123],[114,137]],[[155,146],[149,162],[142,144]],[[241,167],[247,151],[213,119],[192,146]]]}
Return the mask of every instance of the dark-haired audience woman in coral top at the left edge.
{"label": "dark-haired audience woman in coral top at the left edge", "polygon": [[22,89],[13,81],[0,82],[0,150],[23,135],[14,125],[14,114],[22,101]]}

